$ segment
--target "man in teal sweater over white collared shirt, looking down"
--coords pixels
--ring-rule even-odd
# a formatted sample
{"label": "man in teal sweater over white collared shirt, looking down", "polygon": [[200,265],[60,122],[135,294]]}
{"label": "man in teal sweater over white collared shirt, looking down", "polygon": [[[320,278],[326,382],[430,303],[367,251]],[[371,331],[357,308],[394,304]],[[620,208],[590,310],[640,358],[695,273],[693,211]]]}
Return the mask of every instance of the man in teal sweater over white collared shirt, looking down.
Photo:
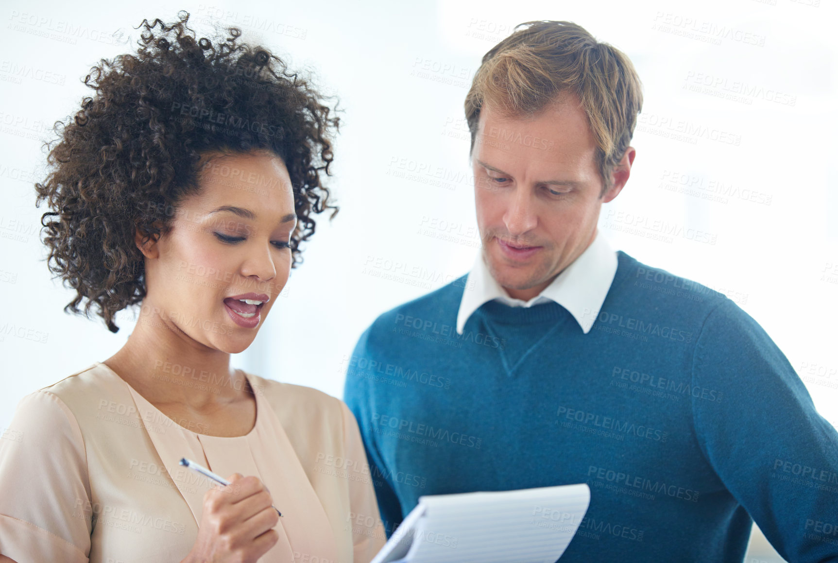
{"label": "man in teal sweater over white collared shirt, looking down", "polygon": [[[483,248],[361,336],[344,400],[388,533],[423,494],[588,483],[562,561],[838,557],[838,434],[753,318],[614,252],[629,59],[566,22],[484,56],[465,108]],[[835,559],[838,560],[838,559]]]}

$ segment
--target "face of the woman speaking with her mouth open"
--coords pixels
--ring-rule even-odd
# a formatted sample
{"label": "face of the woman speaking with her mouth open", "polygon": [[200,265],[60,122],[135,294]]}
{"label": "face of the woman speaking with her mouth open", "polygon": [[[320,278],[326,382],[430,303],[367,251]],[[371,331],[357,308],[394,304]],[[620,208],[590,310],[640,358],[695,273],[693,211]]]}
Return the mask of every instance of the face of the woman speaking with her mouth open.
{"label": "face of the woman speaking with her mouth open", "polygon": [[288,280],[297,224],[291,180],[282,158],[251,152],[207,155],[198,183],[172,230],[147,249],[142,307],[151,308],[149,322],[236,354],[256,338]]}

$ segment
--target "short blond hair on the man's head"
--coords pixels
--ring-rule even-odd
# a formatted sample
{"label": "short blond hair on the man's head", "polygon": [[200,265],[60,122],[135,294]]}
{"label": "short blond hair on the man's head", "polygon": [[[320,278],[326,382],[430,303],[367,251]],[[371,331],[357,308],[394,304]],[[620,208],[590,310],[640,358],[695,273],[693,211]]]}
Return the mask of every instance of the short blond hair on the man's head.
{"label": "short blond hair on the man's head", "polygon": [[505,116],[531,116],[568,91],[587,114],[604,194],[631,142],[643,93],[629,57],[576,23],[521,23],[484,55],[465,101],[471,148],[485,103]]}

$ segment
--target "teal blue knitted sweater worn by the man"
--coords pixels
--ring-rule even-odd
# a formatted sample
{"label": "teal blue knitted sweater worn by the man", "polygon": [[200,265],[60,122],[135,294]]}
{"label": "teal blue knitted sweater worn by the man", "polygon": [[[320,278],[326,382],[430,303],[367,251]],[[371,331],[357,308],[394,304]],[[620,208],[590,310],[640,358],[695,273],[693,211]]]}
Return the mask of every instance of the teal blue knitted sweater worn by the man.
{"label": "teal blue knitted sweater worn by the man", "polygon": [[423,494],[588,483],[562,562],[742,561],[752,518],[786,560],[838,561],[838,434],[730,299],[620,251],[589,333],[488,302],[460,335],[464,281],[349,360],[388,535]]}

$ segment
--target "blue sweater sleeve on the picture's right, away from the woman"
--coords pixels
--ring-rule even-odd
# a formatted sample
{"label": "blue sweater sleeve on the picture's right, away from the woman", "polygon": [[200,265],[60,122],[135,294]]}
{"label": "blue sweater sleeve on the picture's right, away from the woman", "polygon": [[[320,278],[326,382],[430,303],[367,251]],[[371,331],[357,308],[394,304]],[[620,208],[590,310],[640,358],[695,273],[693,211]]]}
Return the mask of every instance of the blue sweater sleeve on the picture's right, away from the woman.
{"label": "blue sweater sleeve on the picture's right, away from the woman", "polygon": [[696,340],[692,389],[702,452],[774,549],[793,562],[838,561],[838,433],[777,345],[729,299]]}

